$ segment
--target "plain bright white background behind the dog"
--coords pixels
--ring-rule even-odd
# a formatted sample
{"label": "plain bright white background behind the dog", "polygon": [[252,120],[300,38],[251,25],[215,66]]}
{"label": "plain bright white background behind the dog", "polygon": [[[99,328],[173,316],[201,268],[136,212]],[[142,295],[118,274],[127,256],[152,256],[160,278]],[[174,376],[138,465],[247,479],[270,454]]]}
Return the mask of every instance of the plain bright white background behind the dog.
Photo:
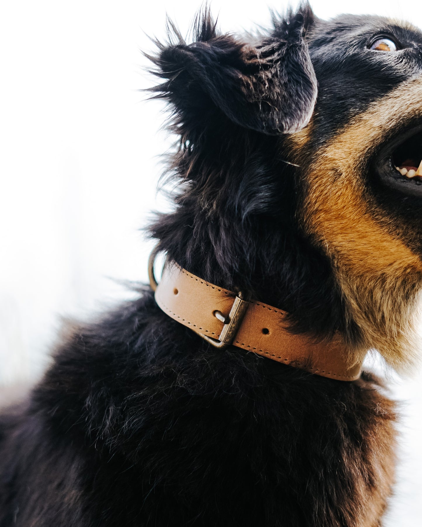
{"label": "plain bright white background behind the dog", "polygon": [[[48,364],[61,317],[86,318],[146,280],[143,239],[156,196],[162,102],[140,50],[164,38],[166,12],[182,33],[199,0],[31,0],[0,4],[0,385],[29,384]],[[420,3],[315,0],[322,18],[347,11],[407,18]],[[283,9],[285,3],[273,3]],[[224,31],[266,25],[250,0],[214,0]],[[390,374],[401,403],[400,466],[385,525],[420,525],[422,375]]]}

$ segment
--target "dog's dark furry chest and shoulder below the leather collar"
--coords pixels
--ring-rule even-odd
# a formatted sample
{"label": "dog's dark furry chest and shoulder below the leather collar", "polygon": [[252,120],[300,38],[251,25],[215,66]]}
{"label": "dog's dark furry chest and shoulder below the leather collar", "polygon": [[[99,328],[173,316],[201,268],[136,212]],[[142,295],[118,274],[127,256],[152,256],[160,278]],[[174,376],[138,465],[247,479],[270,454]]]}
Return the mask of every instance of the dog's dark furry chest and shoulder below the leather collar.
{"label": "dog's dark furry chest and shoulder below the leather collar", "polygon": [[74,331],[2,426],[0,525],[378,525],[394,414],[376,380],[200,345],[150,294]]}

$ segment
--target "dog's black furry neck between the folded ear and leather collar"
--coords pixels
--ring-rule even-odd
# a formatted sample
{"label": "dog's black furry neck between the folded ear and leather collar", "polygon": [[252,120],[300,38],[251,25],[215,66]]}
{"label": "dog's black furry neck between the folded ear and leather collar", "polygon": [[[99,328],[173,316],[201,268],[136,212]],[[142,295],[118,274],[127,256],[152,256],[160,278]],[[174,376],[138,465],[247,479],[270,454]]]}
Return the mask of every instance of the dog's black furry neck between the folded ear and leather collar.
{"label": "dog's black furry neck between the folded ear and leather collar", "polygon": [[198,137],[179,128],[193,147],[181,143],[170,160],[175,210],[150,228],[161,249],[196,276],[287,311],[299,333],[353,340],[331,262],[300,231],[298,169],[285,161],[285,140],[223,118]]}

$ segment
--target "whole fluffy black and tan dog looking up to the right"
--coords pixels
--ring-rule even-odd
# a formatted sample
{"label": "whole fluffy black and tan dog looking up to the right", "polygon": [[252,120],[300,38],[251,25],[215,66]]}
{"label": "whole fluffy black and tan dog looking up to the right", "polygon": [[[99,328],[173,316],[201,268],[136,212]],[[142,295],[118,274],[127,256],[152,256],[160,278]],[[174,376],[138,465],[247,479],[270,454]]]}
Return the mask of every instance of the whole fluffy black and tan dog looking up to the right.
{"label": "whole fluffy black and tan dog looking up to the right", "polygon": [[304,6],[254,43],[208,13],[194,43],[171,38],[152,57],[180,136],[159,249],[209,290],[242,291],[239,305],[287,311],[267,355],[312,339],[317,366],[326,349],[358,374],[281,364],[236,336],[218,349],[145,288],[70,328],[3,415],[0,525],[376,527],[394,405],[359,372],[370,348],[398,370],[418,355],[422,34]]}

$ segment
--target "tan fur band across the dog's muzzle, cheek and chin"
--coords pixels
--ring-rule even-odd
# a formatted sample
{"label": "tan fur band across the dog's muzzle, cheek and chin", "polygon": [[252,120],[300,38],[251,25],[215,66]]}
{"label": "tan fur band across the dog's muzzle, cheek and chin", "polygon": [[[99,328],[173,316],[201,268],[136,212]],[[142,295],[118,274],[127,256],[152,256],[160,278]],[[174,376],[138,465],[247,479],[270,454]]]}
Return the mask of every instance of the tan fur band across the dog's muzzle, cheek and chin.
{"label": "tan fur band across the dog's muzzle, cheek and chin", "polygon": [[[333,262],[347,316],[361,330],[353,358],[377,348],[398,369],[419,351],[422,262],[377,214],[362,171],[373,149],[416,116],[422,116],[422,77],[353,118],[303,174],[303,227]],[[302,159],[304,138],[304,132],[291,138],[293,155]]]}

